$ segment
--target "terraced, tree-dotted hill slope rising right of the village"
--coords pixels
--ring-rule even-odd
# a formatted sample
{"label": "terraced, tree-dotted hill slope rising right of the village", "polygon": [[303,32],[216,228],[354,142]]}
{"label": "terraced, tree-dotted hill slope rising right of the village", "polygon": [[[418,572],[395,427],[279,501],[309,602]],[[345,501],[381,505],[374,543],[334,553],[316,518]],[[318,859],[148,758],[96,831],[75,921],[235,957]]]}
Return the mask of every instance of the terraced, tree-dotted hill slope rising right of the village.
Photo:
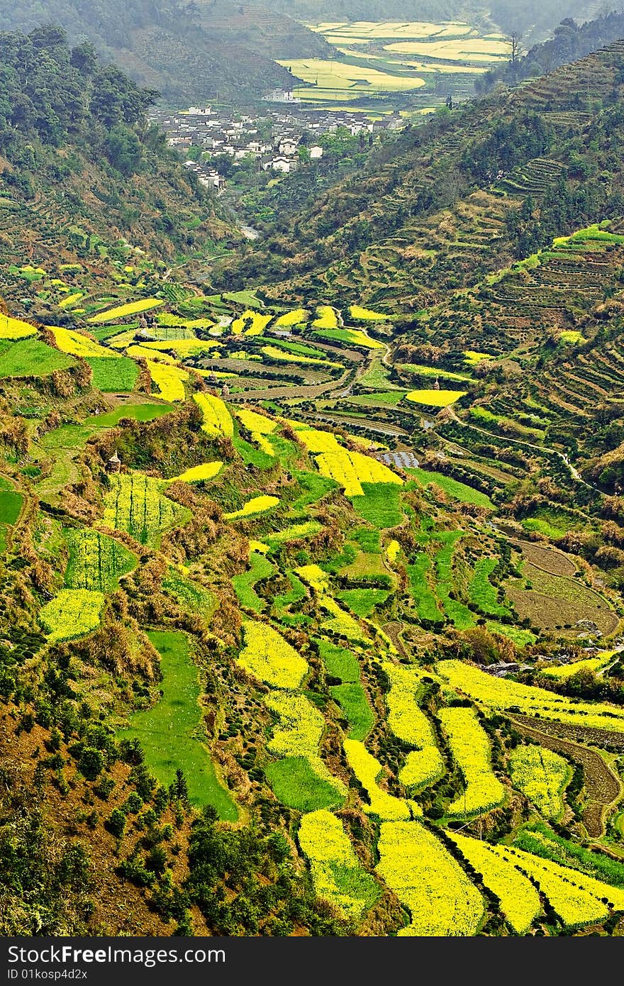
{"label": "terraced, tree-dotted hill slope rising right of the village", "polygon": [[[540,237],[545,243],[598,213],[616,215],[624,185],[613,154],[623,68],[624,45],[615,42],[518,91],[407,126],[362,174],[320,195],[305,173],[269,189],[273,225],[224,276],[244,278],[248,269],[257,279],[261,268],[273,298],[357,290],[373,305],[420,308],[436,299],[443,279],[445,289],[476,283]],[[589,175],[600,179],[588,183]],[[312,188],[303,206],[296,194],[302,180]],[[529,212],[538,208],[534,244],[514,219],[523,203]]]}

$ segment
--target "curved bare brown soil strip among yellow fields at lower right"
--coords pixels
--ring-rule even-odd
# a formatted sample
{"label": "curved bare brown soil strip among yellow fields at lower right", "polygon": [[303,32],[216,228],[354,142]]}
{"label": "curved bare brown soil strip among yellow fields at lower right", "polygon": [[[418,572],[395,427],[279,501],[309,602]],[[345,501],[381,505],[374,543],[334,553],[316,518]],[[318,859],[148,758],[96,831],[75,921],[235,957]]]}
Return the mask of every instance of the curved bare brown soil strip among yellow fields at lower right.
{"label": "curved bare brown soil strip among yellow fields at lower right", "polygon": [[[600,754],[589,749],[588,746],[550,736],[548,733],[543,733],[541,728],[536,729],[527,725],[536,723],[536,720],[526,716],[514,716],[512,722],[523,736],[536,740],[540,746],[545,746],[547,749],[563,753],[583,767],[585,789],[588,793],[588,803],[583,809],[583,821],[591,838],[597,839],[603,835],[605,810],[619,798],[621,785]],[[541,727],[541,723],[539,726]]]}

